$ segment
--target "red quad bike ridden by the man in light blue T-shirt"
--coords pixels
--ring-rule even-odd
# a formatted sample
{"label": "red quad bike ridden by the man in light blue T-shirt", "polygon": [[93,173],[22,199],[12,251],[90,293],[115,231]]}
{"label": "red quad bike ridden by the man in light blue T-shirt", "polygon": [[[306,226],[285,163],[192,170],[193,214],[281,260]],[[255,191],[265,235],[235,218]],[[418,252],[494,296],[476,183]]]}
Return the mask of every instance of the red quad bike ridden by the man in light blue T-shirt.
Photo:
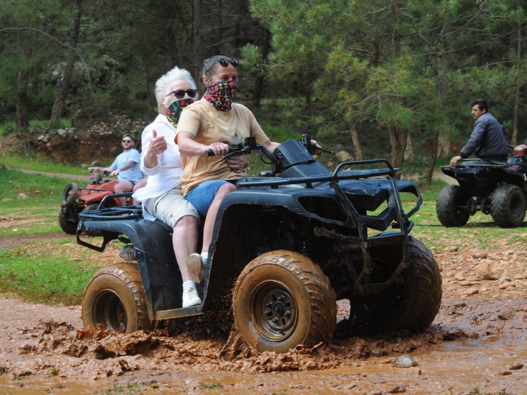
{"label": "red quad bike ridden by the man in light blue T-shirt", "polygon": [[[103,174],[110,173],[104,172]],[[93,171],[90,175],[90,183],[85,188],[79,187],[75,182],[70,182],[62,192],[62,207],[58,215],[58,224],[67,234],[76,233],[81,211],[99,208],[103,198],[114,193],[115,184],[119,181],[103,180],[103,174]],[[105,200],[104,204],[105,207],[119,205],[119,199],[116,196]]]}

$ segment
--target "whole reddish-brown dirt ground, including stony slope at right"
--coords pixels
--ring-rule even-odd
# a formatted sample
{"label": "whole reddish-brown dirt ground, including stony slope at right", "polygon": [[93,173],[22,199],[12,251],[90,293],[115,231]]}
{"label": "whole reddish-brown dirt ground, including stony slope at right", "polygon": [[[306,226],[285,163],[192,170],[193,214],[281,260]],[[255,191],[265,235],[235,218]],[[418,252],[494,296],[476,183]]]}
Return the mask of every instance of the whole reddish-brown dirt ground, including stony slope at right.
{"label": "whole reddish-brown dirt ground, including stony slope at right", "polygon": [[[51,240],[56,236],[46,237]],[[22,242],[25,240],[21,238],[17,243],[12,238],[0,238],[1,245]],[[518,380],[527,378],[522,369],[527,354],[521,354],[527,345],[523,335],[527,329],[525,252],[525,247],[518,245],[506,251],[453,249],[435,254],[442,268],[443,302],[436,320],[424,333],[350,338],[337,329],[331,344],[313,349],[297,347],[286,354],[255,353],[235,336],[226,342],[208,333],[200,319],[173,321],[164,329],[130,335],[85,333],[78,306],[36,305],[0,295],[0,390],[33,393],[17,392],[21,389],[17,387],[19,380],[26,389],[46,388],[46,379],[56,377],[72,383],[69,388],[78,392],[71,393],[93,393],[95,389],[136,382],[142,383],[138,385],[143,391],[152,391],[144,383],[155,380],[155,392],[137,393],[479,394],[470,392],[475,378],[469,377],[458,389],[449,382],[452,373],[448,367],[459,364],[462,358],[456,352],[471,341],[501,344],[501,350],[514,338],[512,350],[510,345],[505,348],[517,358],[506,362],[508,366],[485,368],[483,384],[476,387],[485,388],[481,394],[524,393],[518,392],[522,388]],[[494,268],[503,266],[500,278],[477,278],[482,262]],[[347,302],[340,301],[339,320],[348,314]],[[438,347],[452,350],[445,353],[436,350]],[[500,353],[484,347],[477,350],[471,351],[472,359],[480,358],[483,366],[488,352]],[[405,354],[418,366],[397,368],[397,358]],[[431,368],[425,362],[436,355],[445,361],[438,371],[427,371]],[[466,361],[465,368],[469,364]],[[218,386],[216,392],[214,386]]]}

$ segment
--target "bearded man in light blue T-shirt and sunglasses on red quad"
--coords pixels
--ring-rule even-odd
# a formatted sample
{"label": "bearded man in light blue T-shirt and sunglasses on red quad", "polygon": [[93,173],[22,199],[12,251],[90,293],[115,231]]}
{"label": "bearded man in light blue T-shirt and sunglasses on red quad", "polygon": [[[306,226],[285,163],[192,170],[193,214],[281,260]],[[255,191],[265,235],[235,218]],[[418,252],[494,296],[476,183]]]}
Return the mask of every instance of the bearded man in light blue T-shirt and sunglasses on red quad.
{"label": "bearded man in light blue T-shirt and sunglasses on red quad", "polygon": [[[135,184],[143,178],[140,169],[141,155],[134,149],[135,138],[131,134],[125,134],[122,142],[123,152],[115,158],[115,161],[109,167],[89,167],[90,171],[110,172],[110,175],[116,175],[119,180],[115,184],[115,193],[132,192]],[[119,197],[122,206],[126,205],[126,197]]]}

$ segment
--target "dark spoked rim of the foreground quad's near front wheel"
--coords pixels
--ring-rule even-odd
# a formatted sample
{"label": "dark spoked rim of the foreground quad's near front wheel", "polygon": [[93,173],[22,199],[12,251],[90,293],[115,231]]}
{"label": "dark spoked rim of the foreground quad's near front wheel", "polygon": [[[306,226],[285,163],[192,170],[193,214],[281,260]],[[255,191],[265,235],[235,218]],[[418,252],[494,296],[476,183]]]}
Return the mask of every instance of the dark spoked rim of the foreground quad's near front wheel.
{"label": "dark spoked rim of the foreground quad's near front wheel", "polygon": [[280,341],[294,332],[297,304],[284,284],[266,281],[251,293],[250,304],[257,331],[266,339]]}

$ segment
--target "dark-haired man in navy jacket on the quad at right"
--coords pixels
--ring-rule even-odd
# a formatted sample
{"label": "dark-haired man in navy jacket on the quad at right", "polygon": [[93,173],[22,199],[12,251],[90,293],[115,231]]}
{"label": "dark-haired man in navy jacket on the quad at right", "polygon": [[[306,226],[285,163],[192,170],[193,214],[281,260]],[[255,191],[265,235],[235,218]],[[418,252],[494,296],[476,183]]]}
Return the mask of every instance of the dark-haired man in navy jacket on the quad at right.
{"label": "dark-haired man in navy jacket on the quad at right", "polygon": [[465,159],[473,153],[479,159],[489,163],[506,163],[508,145],[503,126],[489,112],[489,106],[485,100],[477,99],[470,105],[475,119],[474,129],[460,154],[450,160],[450,165],[455,166],[457,161]]}

